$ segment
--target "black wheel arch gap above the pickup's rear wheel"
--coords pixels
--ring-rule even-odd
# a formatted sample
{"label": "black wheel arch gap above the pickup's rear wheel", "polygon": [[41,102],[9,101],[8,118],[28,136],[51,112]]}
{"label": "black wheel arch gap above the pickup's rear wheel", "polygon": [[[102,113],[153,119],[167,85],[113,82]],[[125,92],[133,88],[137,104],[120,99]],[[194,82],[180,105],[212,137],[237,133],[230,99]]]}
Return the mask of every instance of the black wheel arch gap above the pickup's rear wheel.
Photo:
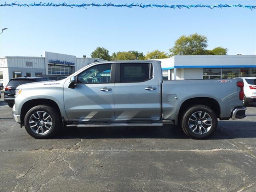
{"label": "black wheel arch gap above the pickup's rear wheel", "polygon": [[220,118],[221,108],[217,100],[210,97],[196,97],[196,98],[187,99],[181,104],[175,124],[178,124],[178,122],[180,122],[182,112],[184,112],[186,108],[196,104],[210,107],[216,114],[217,118]]}

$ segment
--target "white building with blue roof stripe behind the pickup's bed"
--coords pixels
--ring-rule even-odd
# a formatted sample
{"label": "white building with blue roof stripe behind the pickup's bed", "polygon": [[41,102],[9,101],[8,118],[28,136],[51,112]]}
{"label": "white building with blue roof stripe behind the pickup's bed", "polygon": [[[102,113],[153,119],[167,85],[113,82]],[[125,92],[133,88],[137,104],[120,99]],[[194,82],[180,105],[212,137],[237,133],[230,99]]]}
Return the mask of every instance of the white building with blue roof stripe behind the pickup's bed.
{"label": "white building with blue roof stripe behind the pickup's bed", "polygon": [[164,79],[230,79],[256,76],[256,55],[187,55],[161,61]]}

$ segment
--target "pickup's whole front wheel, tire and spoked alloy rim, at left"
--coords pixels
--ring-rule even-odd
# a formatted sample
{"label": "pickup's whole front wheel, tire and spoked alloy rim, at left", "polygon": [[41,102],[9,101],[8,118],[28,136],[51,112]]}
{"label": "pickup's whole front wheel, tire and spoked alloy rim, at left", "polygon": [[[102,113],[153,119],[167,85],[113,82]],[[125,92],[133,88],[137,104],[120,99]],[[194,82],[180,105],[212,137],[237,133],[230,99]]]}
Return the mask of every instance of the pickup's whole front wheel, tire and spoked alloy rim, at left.
{"label": "pickup's whole front wheel, tire and spoked alloy rim, at left", "polygon": [[35,106],[25,115],[24,126],[34,138],[51,138],[61,126],[60,114],[50,106]]}

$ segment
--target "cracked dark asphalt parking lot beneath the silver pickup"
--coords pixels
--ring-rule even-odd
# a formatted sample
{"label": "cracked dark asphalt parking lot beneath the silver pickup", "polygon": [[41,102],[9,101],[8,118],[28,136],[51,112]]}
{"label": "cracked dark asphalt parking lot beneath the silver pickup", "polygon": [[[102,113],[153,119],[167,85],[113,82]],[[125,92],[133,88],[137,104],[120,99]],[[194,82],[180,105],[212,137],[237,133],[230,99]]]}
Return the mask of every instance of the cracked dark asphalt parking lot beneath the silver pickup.
{"label": "cracked dark asphalt parking lot beneath the silver pickup", "polygon": [[[3,99],[3,97],[2,97]],[[0,102],[2,192],[256,191],[256,105],[207,140],[174,126],[66,128],[37,140]]]}

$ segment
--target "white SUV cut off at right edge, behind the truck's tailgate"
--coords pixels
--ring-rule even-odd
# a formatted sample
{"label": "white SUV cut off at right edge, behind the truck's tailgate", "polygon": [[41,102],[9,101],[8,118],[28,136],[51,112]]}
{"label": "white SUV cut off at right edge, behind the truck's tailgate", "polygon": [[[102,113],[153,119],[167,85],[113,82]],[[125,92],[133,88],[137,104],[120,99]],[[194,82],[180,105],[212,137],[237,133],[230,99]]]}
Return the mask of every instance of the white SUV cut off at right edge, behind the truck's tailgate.
{"label": "white SUV cut off at right edge, behind the truck's tailgate", "polygon": [[256,77],[241,77],[240,79],[244,81],[244,106],[248,102],[256,102]]}

